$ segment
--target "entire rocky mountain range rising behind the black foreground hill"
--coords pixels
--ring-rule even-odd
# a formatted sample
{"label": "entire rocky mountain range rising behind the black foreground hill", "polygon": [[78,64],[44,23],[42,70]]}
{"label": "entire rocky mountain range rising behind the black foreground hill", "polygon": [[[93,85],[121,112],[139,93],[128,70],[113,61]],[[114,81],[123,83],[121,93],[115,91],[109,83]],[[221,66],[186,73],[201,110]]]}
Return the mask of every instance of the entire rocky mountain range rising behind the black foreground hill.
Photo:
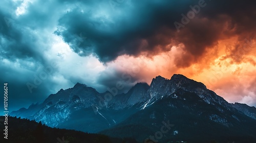
{"label": "entire rocky mountain range rising behind the black foreground hill", "polygon": [[183,75],[158,76],[150,86],[137,83],[127,93],[116,94],[116,90],[99,93],[77,83],[11,115],[139,142],[256,141],[255,107],[230,104]]}

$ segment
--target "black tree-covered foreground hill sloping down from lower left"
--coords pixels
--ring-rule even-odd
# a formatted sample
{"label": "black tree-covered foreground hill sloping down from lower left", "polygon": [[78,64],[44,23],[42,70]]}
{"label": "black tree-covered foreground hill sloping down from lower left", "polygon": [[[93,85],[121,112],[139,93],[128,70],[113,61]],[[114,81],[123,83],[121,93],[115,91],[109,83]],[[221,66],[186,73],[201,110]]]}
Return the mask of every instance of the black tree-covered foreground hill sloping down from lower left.
{"label": "black tree-covered foreground hill sloping down from lower left", "polygon": [[[0,120],[4,120],[4,116],[0,116]],[[101,134],[84,133],[75,130],[66,130],[51,128],[35,121],[20,119],[16,117],[8,117],[8,139],[4,138],[3,130],[6,125],[0,123],[2,137],[0,142],[11,143],[115,143],[115,142],[136,142],[131,138],[113,138]]]}

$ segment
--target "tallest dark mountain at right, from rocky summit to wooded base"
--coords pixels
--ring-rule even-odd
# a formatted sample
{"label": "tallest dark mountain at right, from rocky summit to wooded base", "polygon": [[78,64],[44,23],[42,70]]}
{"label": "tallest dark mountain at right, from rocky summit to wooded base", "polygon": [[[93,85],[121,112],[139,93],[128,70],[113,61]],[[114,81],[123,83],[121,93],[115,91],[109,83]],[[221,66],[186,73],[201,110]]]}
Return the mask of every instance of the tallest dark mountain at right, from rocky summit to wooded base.
{"label": "tallest dark mountain at right, from rocky summit to wooded base", "polygon": [[[146,94],[151,98],[139,111],[100,133],[130,136],[144,142],[147,138],[155,142],[256,140],[256,121],[250,116],[254,110],[249,110],[246,105],[244,108],[250,111],[246,114],[233,108],[232,104],[200,82],[183,75],[174,75],[170,80],[158,76]],[[163,122],[174,125],[169,126],[165,134],[159,132]]]}

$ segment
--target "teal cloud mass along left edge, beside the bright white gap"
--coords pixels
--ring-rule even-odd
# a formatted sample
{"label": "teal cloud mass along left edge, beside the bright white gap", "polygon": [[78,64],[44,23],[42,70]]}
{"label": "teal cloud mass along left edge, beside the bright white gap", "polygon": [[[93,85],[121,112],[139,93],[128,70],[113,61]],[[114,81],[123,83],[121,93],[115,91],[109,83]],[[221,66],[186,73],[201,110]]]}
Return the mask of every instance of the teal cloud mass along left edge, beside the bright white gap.
{"label": "teal cloud mass along left edge, beside the bright white gap", "polygon": [[[44,100],[52,93],[51,85],[54,84],[49,77],[57,70],[53,70],[46,80],[30,92],[27,83],[34,84],[35,76],[39,76],[52,60],[43,54],[49,48],[45,43],[48,42],[45,33],[41,30],[45,28],[45,22],[34,22],[42,19],[42,16],[29,10],[27,15],[17,16],[15,10],[20,3],[3,1],[0,10],[0,79],[1,84],[8,83],[9,111]],[[38,11],[38,7],[30,8]]]}

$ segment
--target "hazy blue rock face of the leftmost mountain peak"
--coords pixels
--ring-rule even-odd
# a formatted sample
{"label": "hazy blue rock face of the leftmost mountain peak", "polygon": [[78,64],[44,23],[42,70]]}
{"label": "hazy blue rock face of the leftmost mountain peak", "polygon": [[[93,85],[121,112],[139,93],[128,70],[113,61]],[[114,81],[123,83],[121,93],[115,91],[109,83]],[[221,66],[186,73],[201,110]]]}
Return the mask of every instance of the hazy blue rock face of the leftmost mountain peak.
{"label": "hazy blue rock face of the leftmost mountain peak", "polygon": [[56,127],[67,120],[72,112],[91,107],[98,94],[99,92],[94,88],[77,83],[73,88],[60,89],[56,94],[51,94],[41,104],[31,105],[22,111],[14,111],[12,115],[30,118],[50,127]]}

